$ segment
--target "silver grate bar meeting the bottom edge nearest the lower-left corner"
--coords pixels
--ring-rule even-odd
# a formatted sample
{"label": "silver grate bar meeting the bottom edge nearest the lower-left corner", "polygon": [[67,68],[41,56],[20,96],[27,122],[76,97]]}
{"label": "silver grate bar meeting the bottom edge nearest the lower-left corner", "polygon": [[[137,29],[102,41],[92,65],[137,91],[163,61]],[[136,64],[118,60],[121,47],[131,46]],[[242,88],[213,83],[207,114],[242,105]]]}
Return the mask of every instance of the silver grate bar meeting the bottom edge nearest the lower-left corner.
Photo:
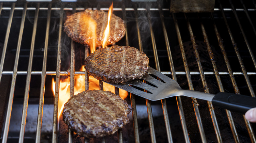
{"label": "silver grate bar meeting the bottom edge nearest the lower-left corner", "polygon": [[[14,8],[14,5],[15,4],[13,3],[12,8]],[[27,7],[27,4],[25,4],[24,8],[26,8],[26,7]],[[12,9],[11,13],[12,13],[12,16],[13,16],[13,9]],[[10,17],[12,17],[12,16],[10,15]],[[14,63],[13,73],[12,73],[11,90],[10,90],[9,101],[8,101],[8,106],[7,106],[7,113],[6,113],[6,119],[5,119],[4,135],[3,135],[3,139],[2,139],[3,143],[7,142],[7,138],[8,138],[9,125],[10,125],[10,119],[11,119],[11,109],[12,109],[14,89],[15,89],[15,83],[16,83],[16,77],[17,77],[16,75],[17,75],[17,69],[18,69],[18,61],[19,61],[21,40],[22,40],[22,35],[23,35],[23,30],[24,30],[25,17],[26,17],[26,9],[23,10],[22,20],[21,20],[21,24],[20,24],[19,38],[18,38],[18,43],[17,43],[17,51],[16,51],[15,63]]]}

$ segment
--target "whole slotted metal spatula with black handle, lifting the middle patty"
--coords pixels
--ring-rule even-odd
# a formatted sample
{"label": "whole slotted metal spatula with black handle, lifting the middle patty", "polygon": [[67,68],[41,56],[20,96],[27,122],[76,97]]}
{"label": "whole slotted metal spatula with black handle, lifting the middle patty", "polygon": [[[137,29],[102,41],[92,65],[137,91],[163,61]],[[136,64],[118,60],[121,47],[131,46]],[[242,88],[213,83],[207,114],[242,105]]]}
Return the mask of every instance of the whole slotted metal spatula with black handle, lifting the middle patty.
{"label": "whole slotted metal spatula with black handle, lifting the middle patty", "polygon": [[[160,80],[152,77],[150,74],[157,76]],[[256,107],[255,97],[225,92],[214,95],[194,90],[183,90],[176,81],[151,67],[148,67],[147,73],[142,79],[151,85],[139,79],[119,84],[106,83],[152,101],[173,96],[187,96],[211,101],[214,105],[240,113],[245,113],[247,110]],[[144,89],[146,92],[135,87]]]}

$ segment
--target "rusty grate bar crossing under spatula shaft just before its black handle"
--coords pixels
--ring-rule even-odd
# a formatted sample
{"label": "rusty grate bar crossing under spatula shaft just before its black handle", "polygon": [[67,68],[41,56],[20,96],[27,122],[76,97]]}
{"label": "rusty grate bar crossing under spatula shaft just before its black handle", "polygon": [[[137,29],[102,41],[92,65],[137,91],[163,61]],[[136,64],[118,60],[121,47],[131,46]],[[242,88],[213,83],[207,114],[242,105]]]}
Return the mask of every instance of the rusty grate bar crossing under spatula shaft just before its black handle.
{"label": "rusty grate bar crossing under spatula shaft just before its black handle", "polygon": [[[199,72],[200,72],[202,84],[203,84],[203,87],[204,87],[204,92],[209,93],[209,89],[208,89],[208,86],[207,86],[207,83],[206,83],[205,75],[203,73],[203,67],[202,67],[202,64],[201,64],[201,61],[200,61],[200,57],[199,57],[199,52],[197,50],[196,40],[195,40],[193,31],[192,31],[192,27],[191,27],[190,22],[189,22],[189,19],[187,18],[186,14],[185,14],[185,18],[186,18],[186,21],[187,21],[187,26],[188,26],[188,30],[189,30],[189,34],[190,34],[190,40],[191,40],[192,45],[193,45],[193,49],[194,49],[194,53],[195,53],[195,56],[196,56],[196,61],[197,61],[197,64],[198,64],[198,69],[199,69]],[[211,118],[212,118],[212,122],[213,122],[213,127],[214,127],[214,130],[215,130],[217,140],[218,140],[218,142],[221,143],[222,138],[221,138],[221,134],[220,134],[220,129],[219,129],[218,122],[217,122],[217,119],[216,119],[216,116],[215,116],[215,112],[213,110],[212,103],[207,101],[207,104],[208,104],[208,107],[209,107],[209,110],[210,110],[210,114],[211,114]]]}

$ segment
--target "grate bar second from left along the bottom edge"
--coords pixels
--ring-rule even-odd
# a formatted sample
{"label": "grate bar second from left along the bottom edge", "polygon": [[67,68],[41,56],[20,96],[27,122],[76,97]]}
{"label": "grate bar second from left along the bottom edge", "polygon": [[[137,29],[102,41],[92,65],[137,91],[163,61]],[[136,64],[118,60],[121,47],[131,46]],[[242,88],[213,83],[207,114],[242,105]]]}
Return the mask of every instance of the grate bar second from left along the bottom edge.
{"label": "grate bar second from left along the bottom edge", "polygon": [[[31,71],[32,71],[32,61],[33,61],[35,35],[36,35],[36,27],[37,27],[38,13],[39,13],[39,5],[40,5],[40,3],[37,4],[36,10],[35,10],[35,19],[34,19],[32,40],[31,40],[29,65],[28,65],[28,71],[27,71],[26,87],[25,87],[24,102],[23,102],[22,117],[21,117],[21,125],[20,125],[19,143],[23,143],[24,134],[25,134],[27,109],[28,109],[28,101],[29,101],[29,89],[30,89],[30,80],[31,80]],[[24,9],[27,9],[27,4],[26,4],[26,8],[24,8]]]}

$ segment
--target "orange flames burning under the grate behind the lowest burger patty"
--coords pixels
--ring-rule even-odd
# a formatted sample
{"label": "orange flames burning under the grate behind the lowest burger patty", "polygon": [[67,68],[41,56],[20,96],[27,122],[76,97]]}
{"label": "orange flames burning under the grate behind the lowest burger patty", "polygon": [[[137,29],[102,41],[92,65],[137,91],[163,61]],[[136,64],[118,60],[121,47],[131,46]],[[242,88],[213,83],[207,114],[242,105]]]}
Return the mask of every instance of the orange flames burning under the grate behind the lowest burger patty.
{"label": "orange flames burning under the grate behind the lowest burger patty", "polygon": [[[80,71],[84,71],[84,66],[81,67]],[[62,76],[61,76],[62,77]],[[89,90],[99,89],[99,81],[93,76],[89,76]],[[55,95],[55,81],[52,79],[52,90],[53,95]],[[103,83],[104,90],[111,91],[115,93],[115,87],[106,83]],[[75,76],[75,86],[74,86],[74,95],[84,91],[84,75]],[[119,89],[119,95],[122,99],[125,99],[128,95],[128,92],[122,89]],[[64,104],[70,98],[70,77],[60,80],[59,83],[59,102],[58,102],[58,119],[62,114]]]}

